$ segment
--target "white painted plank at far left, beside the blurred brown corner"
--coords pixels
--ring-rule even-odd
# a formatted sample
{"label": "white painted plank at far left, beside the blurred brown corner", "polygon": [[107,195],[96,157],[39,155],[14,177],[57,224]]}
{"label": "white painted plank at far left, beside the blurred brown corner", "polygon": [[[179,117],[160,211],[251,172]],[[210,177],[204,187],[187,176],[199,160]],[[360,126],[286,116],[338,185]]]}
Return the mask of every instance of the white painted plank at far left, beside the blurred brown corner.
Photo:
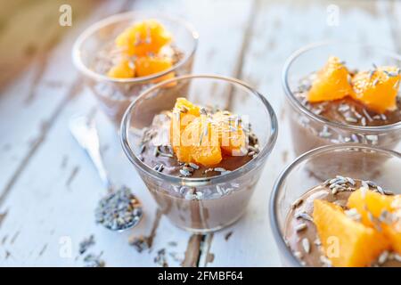
{"label": "white painted plank at far left, beside the blurred brown corner", "polygon": [[[75,27],[73,24],[62,45],[58,45],[45,61],[35,61],[1,94],[0,132],[5,135],[0,141],[0,195],[11,183],[19,167],[23,167],[24,159],[29,158],[29,154],[36,151],[37,144],[45,140],[46,126],[53,123],[73,91],[71,88],[77,79],[77,72],[71,63],[72,43],[85,26],[113,11],[119,11],[121,4],[111,2],[108,6],[96,9],[85,23],[81,23],[82,26]],[[45,64],[43,72],[42,64]],[[42,75],[36,84],[37,72]],[[34,97],[29,101],[31,94]]]}

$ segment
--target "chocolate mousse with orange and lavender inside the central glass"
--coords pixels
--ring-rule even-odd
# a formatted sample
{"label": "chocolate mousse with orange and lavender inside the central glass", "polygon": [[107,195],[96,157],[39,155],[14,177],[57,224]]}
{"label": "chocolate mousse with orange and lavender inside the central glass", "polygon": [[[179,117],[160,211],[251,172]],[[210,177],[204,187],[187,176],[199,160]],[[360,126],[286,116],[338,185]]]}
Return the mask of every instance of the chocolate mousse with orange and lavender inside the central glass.
{"label": "chocolate mousse with orange and lavender inside the central glass", "polygon": [[[175,145],[172,127],[177,115],[180,116],[179,122],[184,122],[185,115],[192,114],[195,116],[190,118],[192,121],[189,124],[178,126],[182,143]],[[205,118],[206,125],[200,126],[201,133],[196,134],[196,142],[184,145],[185,130],[197,126],[201,118]],[[218,136],[217,145],[212,143],[213,133]],[[223,133],[228,135],[226,145],[223,145],[220,136]],[[244,140],[241,145],[234,146],[233,140],[238,139],[237,135]],[[249,126],[241,122],[241,116],[199,107],[178,98],[174,110],[162,111],[153,118],[151,126],[143,132],[138,151],[137,157],[145,165],[164,175],[199,179],[227,175],[257,157],[259,149],[258,138]],[[175,192],[151,180],[144,182],[174,224],[194,232],[197,229],[208,232],[232,224],[241,216],[257,183],[257,176],[239,176],[206,188],[201,183],[199,187],[176,185]],[[240,188],[239,185],[244,183],[246,187]]]}

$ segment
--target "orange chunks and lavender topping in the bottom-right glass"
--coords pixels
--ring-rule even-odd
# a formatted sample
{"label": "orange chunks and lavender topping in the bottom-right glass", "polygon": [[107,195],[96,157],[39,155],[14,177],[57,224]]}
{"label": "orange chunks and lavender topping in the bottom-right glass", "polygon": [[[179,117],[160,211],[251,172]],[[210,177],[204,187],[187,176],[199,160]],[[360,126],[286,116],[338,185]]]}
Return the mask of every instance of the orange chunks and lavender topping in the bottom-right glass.
{"label": "orange chunks and lavender topping in the bottom-right glass", "polygon": [[[372,181],[356,182],[337,175],[323,183],[329,191],[351,191],[344,205],[338,200],[313,201],[313,217],[294,215],[315,224],[323,254],[334,266],[383,264],[389,256],[401,256],[401,195]],[[338,188],[341,186],[340,188]],[[297,224],[296,232],[307,224]],[[320,241],[321,240],[321,241]],[[305,248],[304,241],[301,245]],[[307,253],[307,250],[305,250]]]}

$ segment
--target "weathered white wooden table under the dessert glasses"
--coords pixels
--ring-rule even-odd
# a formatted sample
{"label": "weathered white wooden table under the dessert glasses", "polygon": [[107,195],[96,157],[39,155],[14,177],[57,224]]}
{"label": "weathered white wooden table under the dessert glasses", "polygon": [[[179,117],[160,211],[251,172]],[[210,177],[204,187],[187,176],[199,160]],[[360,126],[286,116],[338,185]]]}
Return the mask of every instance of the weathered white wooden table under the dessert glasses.
{"label": "weathered white wooden table under the dessert glasses", "polygon": [[[58,7],[53,6],[56,15]],[[75,12],[74,5],[72,9]],[[171,12],[192,22],[201,35],[193,72],[241,78],[266,96],[280,120],[278,141],[246,215],[221,232],[192,235],[157,214],[118,136],[96,111],[94,96],[72,66],[71,45],[78,34],[95,20],[126,10]],[[102,253],[108,266],[157,266],[154,258],[162,248],[169,266],[281,265],[270,231],[268,199],[274,179],[293,159],[282,111],[282,64],[300,46],[327,39],[360,40],[400,52],[401,3],[141,0],[105,1],[90,11],[85,20],[62,28],[64,37],[57,44],[42,48],[44,53],[26,61],[29,67],[2,87],[0,265],[85,265],[78,245],[91,234],[95,244],[87,252]],[[23,20],[23,15],[15,13],[20,19],[14,20]],[[14,25],[4,26],[0,45],[13,30]],[[94,208],[104,190],[67,128],[77,113],[94,114],[110,176],[131,187],[145,205],[142,223],[130,232],[109,232],[94,224]],[[153,238],[151,248],[142,253],[128,244],[130,236],[139,235]]]}

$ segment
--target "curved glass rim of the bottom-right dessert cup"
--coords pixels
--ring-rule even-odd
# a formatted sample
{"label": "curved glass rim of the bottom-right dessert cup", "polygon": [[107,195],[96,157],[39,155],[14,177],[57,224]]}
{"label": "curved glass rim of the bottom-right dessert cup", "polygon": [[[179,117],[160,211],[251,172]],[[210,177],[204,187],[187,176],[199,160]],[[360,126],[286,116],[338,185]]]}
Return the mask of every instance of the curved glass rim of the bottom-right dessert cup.
{"label": "curved glass rim of the bottom-right dessert cup", "polygon": [[280,175],[278,175],[278,177],[276,178],[273,186],[273,191],[271,193],[269,200],[268,213],[269,213],[270,227],[272,229],[274,240],[275,243],[277,244],[277,248],[279,249],[279,254],[283,254],[287,259],[290,259],[292,265],[302,266],[299,263],[297,257],[295,257],[292,254],[291,249],[287,247],[282,232],[280,231],[279,221],[275,214],[278,210],[278,196],[281,191],[281,186],[283,181],[291,173],[294,167],[297,167],[300,163],[304,162],[306,159],[309,159],[315,155],[330,151],[345,151],[345,150],[356,150],[356,149],[381,152],[391,157],[396,157],[397,159],[401,159],[401,153],[398,151],[363,145],[360,143],[339,143],[332,145],[323,145],[321,147],[315,148],[311,151],[307,151],[301,154],[298,158],[294,159],[290,164],[288,164],[282,170]]}

